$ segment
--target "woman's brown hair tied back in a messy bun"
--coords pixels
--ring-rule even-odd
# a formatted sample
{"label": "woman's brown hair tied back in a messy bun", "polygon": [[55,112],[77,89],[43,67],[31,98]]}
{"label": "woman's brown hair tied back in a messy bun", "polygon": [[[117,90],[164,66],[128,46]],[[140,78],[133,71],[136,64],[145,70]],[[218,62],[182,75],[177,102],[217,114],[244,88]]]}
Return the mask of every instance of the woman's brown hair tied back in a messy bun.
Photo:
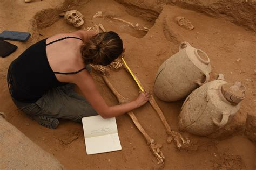
{"label": "woman's brown hair tied back in a messy bun", "polygon": [[80,48],[84,63],[109,65],[123,52],[123,41],[117,33],[103,32],[90,38]]}

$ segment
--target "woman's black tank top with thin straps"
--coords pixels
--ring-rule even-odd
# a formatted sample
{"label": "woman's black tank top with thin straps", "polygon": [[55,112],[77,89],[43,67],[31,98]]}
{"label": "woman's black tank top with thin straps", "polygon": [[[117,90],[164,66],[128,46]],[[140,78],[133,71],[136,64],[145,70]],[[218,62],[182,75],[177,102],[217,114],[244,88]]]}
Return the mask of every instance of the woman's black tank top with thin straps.
{"label": "woman's black tank top with thin straps", "polygon": [[85,69],[71,73],[53,72],[51,69],[46,56],[46,45],[66,38],[77,37],[64,37],[49,44],[46,44],[46,39],[43,39],[12,61],[8,69],[7,81],[13,98],[26,103],[36,102],[49,89],[68,84],[59,82],[55,74],[76,74]]}

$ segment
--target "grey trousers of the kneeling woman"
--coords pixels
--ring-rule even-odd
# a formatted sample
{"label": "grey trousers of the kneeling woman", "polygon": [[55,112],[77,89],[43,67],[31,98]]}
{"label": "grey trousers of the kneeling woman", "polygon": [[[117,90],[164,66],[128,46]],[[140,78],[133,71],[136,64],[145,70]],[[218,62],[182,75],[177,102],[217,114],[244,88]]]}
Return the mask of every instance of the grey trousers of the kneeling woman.
{"label": "grey trousers of the kneeling woman", "polygon": [[82,122],[83,117],[98,115],[86,98],[67,84],[47,91],[35,103],[23,103],[12,98],[19,109],[28,116],[50,116]]}

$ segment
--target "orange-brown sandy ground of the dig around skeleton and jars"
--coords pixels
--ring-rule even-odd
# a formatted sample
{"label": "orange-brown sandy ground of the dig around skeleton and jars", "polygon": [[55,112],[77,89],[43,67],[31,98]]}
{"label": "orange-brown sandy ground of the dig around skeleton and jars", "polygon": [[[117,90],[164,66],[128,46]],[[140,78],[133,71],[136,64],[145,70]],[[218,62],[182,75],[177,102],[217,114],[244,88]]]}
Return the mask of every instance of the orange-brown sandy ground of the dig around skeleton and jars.
{"label": "orange-brown sandy ground of the dig around skeleton and jars", "polygon": [[[25,31],[30,32],[31,37],[26,42],[10,41],[18,49],[7,58],[0,58],[0,111],[5,112],[7,121],[54,155],[66,169],[158,168],[157,159],[127,115],[116,117],[122,151],[86,155],[82,124],[60,120],[58,128],[50,130],[29,119],[12,102],[6,83],[10,62],[38,40],[78,30],[59,16],[63,10],[76,9],[84,15],[84,27],[101,23],[106,30],[120,34],[126,47],[126,62],[151,94],[158,67],[178,52],[178,46],[183,41],[202,49],[210,57],[210,80],[223,73],[227,82],[241,81],[245,84],[246,98],[228,128],[220,131],[218,138],[182,133],[193,143],[187,150],[177,150],[173,143],[166,143],[164,126],[149,103],[134,110],[146,132],[163,145],[164,169],[255,169],[255,142],[244,134],[247,115],[252,119],[256,117],[255,1],[209,2],[34,0],[26,4],[24,0],[2,0],[0,32]],[[136,31],[107,17],[93,18],[97,11],[102,11],[105,16],[138,23],[150,28],[150,31]],[[174,21],[177,16],[186,17],[195,28],[186,30],[180,27]],[[92,75],[106,102],[117,104],[102,78],[95,73]],[[109,79],[123,96],[133,99],[138,95],[138,87],[125,69],[111,72]],[[183,101],[171,103],[157,100],[175,131],[178,131],[178,115]],[[250,127],[252,129],[248,129],[247,134],[253,139],[253,135],[256,136],[255,124]]]}

